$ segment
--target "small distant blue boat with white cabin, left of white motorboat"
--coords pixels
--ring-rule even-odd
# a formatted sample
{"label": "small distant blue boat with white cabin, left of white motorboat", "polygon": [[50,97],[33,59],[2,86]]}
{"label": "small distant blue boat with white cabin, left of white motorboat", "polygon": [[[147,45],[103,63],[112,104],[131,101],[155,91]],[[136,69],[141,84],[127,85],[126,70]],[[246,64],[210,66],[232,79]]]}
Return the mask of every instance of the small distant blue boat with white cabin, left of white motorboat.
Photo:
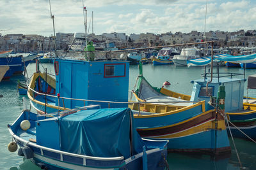
{"label": "small distant blue boat with white cabin, left of white motorboat", "polygon": [[173,64],[171,60],[173,55],[177,55],[180,52],[177,52],[175,48],[172,47],[164,47],[157,53],[157,56],[152,57],[153,65],[166,65],[166,64]]}

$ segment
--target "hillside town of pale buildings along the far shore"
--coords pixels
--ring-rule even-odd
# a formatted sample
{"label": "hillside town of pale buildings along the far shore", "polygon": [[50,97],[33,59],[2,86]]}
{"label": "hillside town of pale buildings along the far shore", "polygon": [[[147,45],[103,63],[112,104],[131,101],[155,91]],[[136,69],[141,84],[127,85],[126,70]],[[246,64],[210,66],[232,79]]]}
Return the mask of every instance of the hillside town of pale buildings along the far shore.
{"label": "hillside town of pale buildings along the far shore", "polygon": [[[111,42],[116,50],[127,48],[140,48],[147,46],[164,46],[182,43],[194,43],[200,41],[215,40],[217,48],[226,46],[256,46],[256,30],[244,31],[243,29],[236,32],[209,31],[189,33],[166,32],[163,34],[141,33],[103,33],[101,35],[88,34],[88,41],[93,41],[97,50],[108,50]],[[56,50],[68,50],[74,42],[74,33],[56,33]],[[74,44],[74,43],[73,43]],[[41,36],[36,34],[0,34],[0,50],[10,50],[13,52],[51,52],[55,50],[54,36]]]}

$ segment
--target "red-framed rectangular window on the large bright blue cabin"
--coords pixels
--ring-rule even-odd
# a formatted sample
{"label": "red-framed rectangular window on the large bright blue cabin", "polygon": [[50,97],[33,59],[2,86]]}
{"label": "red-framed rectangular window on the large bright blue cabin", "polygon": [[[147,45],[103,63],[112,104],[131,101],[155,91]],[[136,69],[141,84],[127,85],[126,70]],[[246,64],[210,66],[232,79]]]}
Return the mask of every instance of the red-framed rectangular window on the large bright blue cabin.
{"label": "red-framed rectangular window on the large bright blue cabin", "polygon": [[104,78],[125,77],[125,63],[104,64]]}

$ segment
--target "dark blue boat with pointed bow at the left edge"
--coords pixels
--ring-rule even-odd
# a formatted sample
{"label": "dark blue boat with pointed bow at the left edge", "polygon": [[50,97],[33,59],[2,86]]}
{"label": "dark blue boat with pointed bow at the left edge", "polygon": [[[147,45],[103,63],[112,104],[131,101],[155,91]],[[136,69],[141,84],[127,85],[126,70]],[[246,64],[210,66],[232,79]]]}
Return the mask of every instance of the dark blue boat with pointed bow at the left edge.
{"label": "dark blue boat with pointed bow at the left edge", "polygon": [[36,57],[36,53],[29,53],[29,55],[15,55],[8,57],[0,57],[0,66],[8,65],[10,69],[4,74],[3,79],[10,79],[13,74],[21,74],[26,66]]}

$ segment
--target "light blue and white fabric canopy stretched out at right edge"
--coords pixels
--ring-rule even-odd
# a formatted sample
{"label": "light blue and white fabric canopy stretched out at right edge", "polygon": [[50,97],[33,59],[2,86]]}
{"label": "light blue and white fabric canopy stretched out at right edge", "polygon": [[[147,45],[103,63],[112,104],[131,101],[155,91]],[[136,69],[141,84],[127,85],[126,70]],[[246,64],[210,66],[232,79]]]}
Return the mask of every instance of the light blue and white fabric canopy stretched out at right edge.
{"label": "light blue and white fabric canopy stretched out at right edge", "polygon": [[[250,63],[255,62],[256,60],[256,53],[250,55],[228,55],[228,54],[220,54],[214,55],[213,61],[220,62],[220,61],[227,61],[227,62],[235,62],[235,63]],[[197,59],[190,59],[187,61],[188,67],[190,66],[206,66],[211,64],[211,57],[200,57]]]}

